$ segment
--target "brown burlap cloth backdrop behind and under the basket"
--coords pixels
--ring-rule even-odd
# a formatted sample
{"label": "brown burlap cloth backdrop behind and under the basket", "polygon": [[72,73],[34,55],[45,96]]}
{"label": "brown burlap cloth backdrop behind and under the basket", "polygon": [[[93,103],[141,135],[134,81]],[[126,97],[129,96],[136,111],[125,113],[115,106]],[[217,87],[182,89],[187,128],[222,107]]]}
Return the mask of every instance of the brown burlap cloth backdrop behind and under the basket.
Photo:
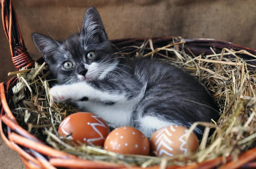
{"label": "brown burlap cloth backdrop behind and under the basket", "polygon": [[[256,48],[256,0],[13,0],[26,47],[34,59],[40,54],[32,32],[59,40],[78,31],[86,9],[95,6],[110,39],[182,36],[214,38]],[[45,24],[45,26],[44,26]],[[68,31],[69,29],[70,31]],[[15,71],[9,44],[0,26],[0,82]],[[0,140],[0,168],[23,168],[16,153]]]}

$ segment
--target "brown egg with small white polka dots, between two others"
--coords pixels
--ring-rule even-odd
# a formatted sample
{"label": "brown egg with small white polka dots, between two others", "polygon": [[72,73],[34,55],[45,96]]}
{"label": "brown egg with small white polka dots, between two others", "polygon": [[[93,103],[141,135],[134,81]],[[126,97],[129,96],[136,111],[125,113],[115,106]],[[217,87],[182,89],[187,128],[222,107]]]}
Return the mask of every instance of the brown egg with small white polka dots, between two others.
{"label": "brown egg with small white polka dots, between two others", "polygon": [[104,149],[119,154],[149,154],[149,141],[134,127],[119,127],[107,136]]}

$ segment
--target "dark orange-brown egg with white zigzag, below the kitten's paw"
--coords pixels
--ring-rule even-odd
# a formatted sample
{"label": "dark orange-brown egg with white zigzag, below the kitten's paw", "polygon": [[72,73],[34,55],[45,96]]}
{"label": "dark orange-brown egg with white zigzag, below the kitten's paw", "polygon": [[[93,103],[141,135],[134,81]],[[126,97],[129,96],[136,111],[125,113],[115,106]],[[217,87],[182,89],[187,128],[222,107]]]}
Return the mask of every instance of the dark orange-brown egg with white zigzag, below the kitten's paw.
{"label": "dark orange-brown egg with white zigzag, below the kitten's paw", "polygon": [[58,127],[59,137],[68,136],[76,143],[102,146],[110,129],[105,121],[93,113],[74,113],[61,122]]}

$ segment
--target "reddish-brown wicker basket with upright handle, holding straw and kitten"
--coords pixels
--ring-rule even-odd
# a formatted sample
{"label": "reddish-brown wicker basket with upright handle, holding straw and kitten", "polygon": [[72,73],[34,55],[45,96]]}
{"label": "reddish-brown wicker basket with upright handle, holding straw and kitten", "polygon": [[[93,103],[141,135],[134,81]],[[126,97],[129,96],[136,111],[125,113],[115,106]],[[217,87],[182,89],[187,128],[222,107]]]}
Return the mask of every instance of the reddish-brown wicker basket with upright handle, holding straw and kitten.
{"label": "reddish-brown wicker basket with upright handle, holding straw and kitten", "polygon": [[[15,13],[12,0],[1,0],[2,5],[2,19],[3,28],[6,33],[6,37],[9,40],[12,61],[17,69],[23,67],[32,67],[34,61],[29,56],[23,38],[20,33],[17,16]],[[125,46],[140,46],[145,39],[118,39],[112,40],[111,42],[118,48]],[[154,46],[164,46],[170,42],[178,40],[173,39],[173,37],[162,37],[154,38],[152,42]],[[192,52],[193,54],[212,54],[209,49],[212,47],[215,53],[220,54],[222,48],[229,48],[234,50],[245,50],[251,54],[256,54],[256,51],[250,48],[244,48],[242,46],[224,42],[215,39],[185,39],[185,50],[186,52]],[[248,58],[248,55],[241,54],[240,57],[244,59]],[[43,62],[43,59],[38,60],[39,63]],[[252,65],[256,65],[256,62],[250,62]],[[88,160],[78,159],[76,156],[55,150],[40,140],[35,138],[29,132],[24,130],[17,124],[15,116],[12,114],[9,107],[9,99],[12,96],[12,87],[16,84],[17,77],[14,77],[7,82],[0,84],[0,110],[1,110],[1,122],[0,122],[0,133],[6,144],[19,153],[21,159],[28,169],[56,169],[56,168],[93,168],[93,169],[107,169],[107,168],[126,168],[125,166],[112,163],[100,163]],[[238,159],[234,162],[231,157],[226,159],[227,163],[223,164],[222,158],[216,158],[212,161],[206,161],[203,163],[198,163],[190,166],[169,166],[168,169],[211,169],[221,166],[222,169],[235,169],[235,168],[256,168],[256,148],[250,149],[244,152]],[[134,167],[140,168],[140,167]],[[151,169],[160,168],[148,167]]]}

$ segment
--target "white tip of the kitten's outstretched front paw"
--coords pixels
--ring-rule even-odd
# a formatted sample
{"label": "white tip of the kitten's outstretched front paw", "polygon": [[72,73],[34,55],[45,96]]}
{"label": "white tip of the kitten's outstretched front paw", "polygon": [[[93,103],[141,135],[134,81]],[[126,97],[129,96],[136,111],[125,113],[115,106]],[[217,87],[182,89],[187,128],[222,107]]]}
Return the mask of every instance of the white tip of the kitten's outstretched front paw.
{"label": "white tip of the kitten's outstretched front paw", "polygon": [[52,95],[53,100],[56,103],[64,102],[69,99],[67,91],[64,86],[54,86],[49,90],[49,94]]}

